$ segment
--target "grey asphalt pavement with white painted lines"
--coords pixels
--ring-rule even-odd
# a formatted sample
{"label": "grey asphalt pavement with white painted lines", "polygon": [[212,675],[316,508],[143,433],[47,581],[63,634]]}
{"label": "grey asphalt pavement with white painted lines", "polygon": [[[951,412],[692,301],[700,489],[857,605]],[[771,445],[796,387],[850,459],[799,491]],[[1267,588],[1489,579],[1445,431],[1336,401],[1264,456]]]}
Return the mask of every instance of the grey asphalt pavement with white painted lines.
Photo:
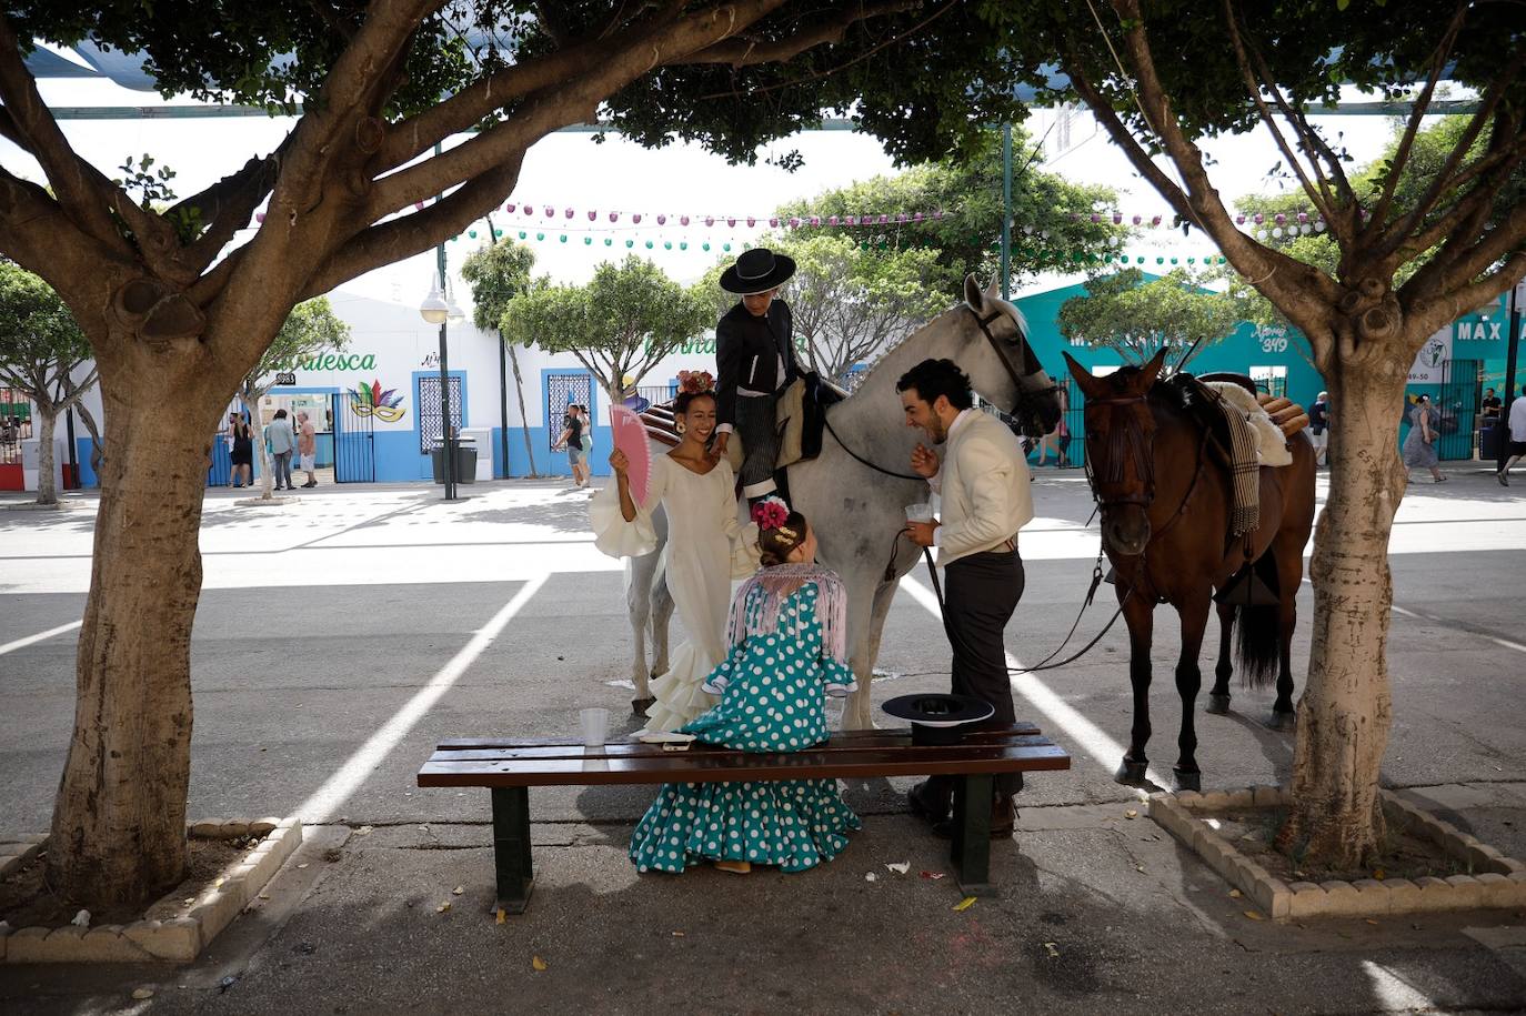
{"label": "grey asphalt pavement with white painted lines", "polygon": [[[1029,781],[1016,844],[993,851],[1000,900],[954,911],[952,879],[920,877],[948,863],[902,813],[908,781],[847,787],[865,828],[832,865],[743,879],[708,868],[636,876],[624,847],[649,787],[548,789],[531,799],[531,909],[494,924],[487,795],[421,790],[418,766],[444,737],[572,732],[589,705],[633,729],[632,638],[620,564],[586,531],[586,493],[526,481],[464,491],[465,502],[443,503],[427,485],[328,487],[273,508],[209,493],[189,812],[298,813],[308,844],[272,900],[197,964],[0,967],[0,1008],[1526,1007],[1521,915],[1273,926],[1247,918],[1244,902],[1148,819],[1128,818],[1137,796],[1111,778],[1132,719],[1122,622],[1082,661],[1015,679],[1018,715],[1074,763]],[[1518,857],[1523,494],[1483,471],[1410,488],[1393,539],[1384,766],[1389,786]],[[67,625],[84,606],[93,529],[92,499],[76,500],[47,513],[0,502],[0,831],[46,830],[67,746],[76,635]],[[1035,502],[1039,517],[1021,542],[1027,590],[1007,635],[1027,662],[1065,635],[1096,555],[1079,473],[1041,471]],[[925,577],[914,581],[922,589],[905,583],[887,624],[876,702],[948,686],[946,641],[925,606]],[[1300,610],[1311,609],[1305,586]],[[1108,613],[1082,621],[1087,638]],[[1180,719],[1175,653],[1175,624],[1161,613],[1151,760],[1164,773]],[[1303,627],[1300,679],[1306,659]],[[1270,706],[1270,693],[1236,686],[1231,715],[1199,712],[1206,789],[1286,778],[1293,735],[1260,725]],[[885,868],[902,860],[908,876]],[[455,906],[436,912],[456,885]],[[534,957],[548,969],[534,970]],[[156,990],[146,1007],[128,998],[139,984]]]}

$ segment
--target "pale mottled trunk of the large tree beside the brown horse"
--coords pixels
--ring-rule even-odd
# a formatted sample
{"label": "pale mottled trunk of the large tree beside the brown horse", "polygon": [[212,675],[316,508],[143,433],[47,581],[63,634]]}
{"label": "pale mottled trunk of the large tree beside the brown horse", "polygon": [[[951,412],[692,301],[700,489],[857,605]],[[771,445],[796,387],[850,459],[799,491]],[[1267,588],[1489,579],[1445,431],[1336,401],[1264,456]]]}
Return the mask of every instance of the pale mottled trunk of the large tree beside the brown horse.
{"label": "pale mottled trunk of the large tree beside the brown horse", "polygon": [[1395,412],[1408,360],[1329,371],[1331,487],[1314,534],[1314,644],[1299,700],[1288,851],[1358,870],[1383,838],[1378,772],[1389,744],[1389,535],[1404,496]]}

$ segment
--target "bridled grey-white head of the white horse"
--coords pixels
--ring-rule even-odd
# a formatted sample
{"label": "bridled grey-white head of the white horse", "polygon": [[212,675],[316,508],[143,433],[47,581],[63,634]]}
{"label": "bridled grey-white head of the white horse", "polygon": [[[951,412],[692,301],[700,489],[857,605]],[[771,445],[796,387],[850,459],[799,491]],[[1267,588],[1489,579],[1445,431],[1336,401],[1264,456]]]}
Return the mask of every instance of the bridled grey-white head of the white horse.
{"label": "bridled grey-white head of the white horse", "polygon": [[1033,354],[1022,313],[996,296],[995,287],[981,293],[974,275],[964,278],[964,305],[971,346],[955,360],[983,398],[1016,420],[1022,433],[1042,438],[1059,423],[1059,386]]}

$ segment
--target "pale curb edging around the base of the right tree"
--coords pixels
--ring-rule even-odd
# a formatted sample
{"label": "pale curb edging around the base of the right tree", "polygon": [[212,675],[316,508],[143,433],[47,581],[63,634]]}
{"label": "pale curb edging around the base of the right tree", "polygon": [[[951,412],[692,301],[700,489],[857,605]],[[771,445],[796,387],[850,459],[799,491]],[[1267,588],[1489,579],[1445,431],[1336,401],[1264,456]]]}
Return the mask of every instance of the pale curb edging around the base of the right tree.
{"label": "pale curb edging around the base of the right tree", "polygon": [[[1390,822],[1402,824],[1410,833],[1428,839],[1450,857],[1468,865],[1474,874],[1448,879],[1357,879],[1355,882],[1283,882],[1264,866],[1239,853],[1216,834],[1198,815],[1213,815],[1248,807],[1279,807],[1288,804],[1282,787],[1250,787],[1247,790],[1215,790],[1210,793],[1154,793],[1149,816],[1167,833],[1202,857],[1227,882],[1238,886],[1256,906],[1274,920],[1300,917],[1383,917],[1386,914],[1418,914],[1422,911],[1456,911],[1473,908],[1526,906],[1526,865],[1506,857],[1468,836],[1451,822],[1444,822],[1389,790],[1383,795],[1383,813]],[[1198,813],[1198,815],[1195,815]]]}

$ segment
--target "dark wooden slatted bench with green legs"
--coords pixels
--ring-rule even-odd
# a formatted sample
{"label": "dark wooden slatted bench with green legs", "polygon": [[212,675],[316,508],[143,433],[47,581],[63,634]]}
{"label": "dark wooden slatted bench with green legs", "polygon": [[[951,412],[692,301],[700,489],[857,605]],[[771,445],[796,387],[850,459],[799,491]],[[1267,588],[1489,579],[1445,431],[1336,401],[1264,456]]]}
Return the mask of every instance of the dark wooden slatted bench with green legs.
{"label": "dark wooden slatted bench with green legs", "polygon": [[700,741],[687,751],[664,751],[641,741],[584,748],[571,740],[456,738],[439,743],[418,770],[418,786],[491,792],[497,908],[522,914],[534,885],[530,787],[954,775],[960,780],[951,857],[958,883],[969,895],[990,895],[992,775],[1058,769],[1070,769],[1070,755],[1041,737],[1036,726],[1018,723],[938,746],[913,744],[909,728],[856,731],[789,754],[740,752]]}

